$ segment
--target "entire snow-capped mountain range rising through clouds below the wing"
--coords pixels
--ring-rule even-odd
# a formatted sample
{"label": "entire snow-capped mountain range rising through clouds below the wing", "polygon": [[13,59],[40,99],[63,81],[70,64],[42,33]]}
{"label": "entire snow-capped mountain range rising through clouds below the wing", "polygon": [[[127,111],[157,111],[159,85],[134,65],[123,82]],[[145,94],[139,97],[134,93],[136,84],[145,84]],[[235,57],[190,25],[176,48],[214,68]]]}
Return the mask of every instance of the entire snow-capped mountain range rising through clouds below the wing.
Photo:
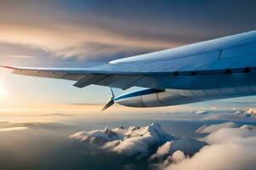
{"label": "entire snow-capped mountain range rising through clouds below the wing", "polygon": [[177,150],[182,150],[185,155],[192,156],[206,145],[206,143],[195,139],[176,139],[163,131],[157,123],[146,127],[105,128],[104,130],[79,132],[70,135],[70,138],[96,144],[103,150],[125,156],[137,156],[137,158],[147,157],[150,156],[150,153],[155,152],[150,156],[150,161],[163,161]]}

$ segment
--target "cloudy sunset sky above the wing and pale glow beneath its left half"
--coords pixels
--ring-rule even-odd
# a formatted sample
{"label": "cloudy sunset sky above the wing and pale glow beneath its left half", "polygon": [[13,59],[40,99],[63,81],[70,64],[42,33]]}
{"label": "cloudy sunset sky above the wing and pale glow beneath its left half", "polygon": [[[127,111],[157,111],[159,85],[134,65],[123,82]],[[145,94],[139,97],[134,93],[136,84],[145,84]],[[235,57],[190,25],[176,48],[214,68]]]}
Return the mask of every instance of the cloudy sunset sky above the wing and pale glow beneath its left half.
{"label": "cloudy sunset sky above the wing and pale glow beneath its left half", "polygon": [[[0,63],[84,67],[86,62],[108,62],[252,31],[255,9],[255,1],[249,0],[0,1]],[[108,102],[108,88],[72,84],[1,69],[0,106]]]}

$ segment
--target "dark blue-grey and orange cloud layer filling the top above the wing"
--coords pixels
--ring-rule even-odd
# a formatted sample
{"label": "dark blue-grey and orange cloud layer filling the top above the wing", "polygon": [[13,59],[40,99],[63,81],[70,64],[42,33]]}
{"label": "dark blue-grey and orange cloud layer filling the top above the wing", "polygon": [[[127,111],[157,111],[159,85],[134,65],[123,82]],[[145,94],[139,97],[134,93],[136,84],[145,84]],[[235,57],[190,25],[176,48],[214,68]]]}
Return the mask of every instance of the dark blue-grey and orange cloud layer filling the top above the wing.
{"label": "dark blue-grey and orange cloud layer filling the top above the wing", "polygon": [[78,59],[116,59],[256,27],[255,1],[241,0],[10,0],[0,9],[1,42]]}

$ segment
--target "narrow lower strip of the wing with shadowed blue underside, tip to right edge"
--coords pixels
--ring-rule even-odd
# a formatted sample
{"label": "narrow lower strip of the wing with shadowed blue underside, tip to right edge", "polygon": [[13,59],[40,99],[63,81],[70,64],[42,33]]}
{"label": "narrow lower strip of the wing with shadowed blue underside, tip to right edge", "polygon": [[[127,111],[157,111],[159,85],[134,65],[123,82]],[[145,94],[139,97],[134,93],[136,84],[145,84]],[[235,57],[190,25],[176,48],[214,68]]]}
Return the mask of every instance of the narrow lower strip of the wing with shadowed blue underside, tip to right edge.
{"label": "narrow lower strip of the wing with shadowed blue underside, tip to right edge", "polygon": [[[173,89],[201,89],[212,79],[223,82],[222,79],[230,78],[231,81],[239,82],[241,77],[254,75],[256,67],[241,65],[242,67],[216,67],[212,70],[187,70],[172,72],[132,72],[114,71],[118,65],[112,68],[109,65],[105,71],[101,67],[90,68],[27,68],[3,66],[13,70],[18,75],[32,77],[48,77],[75,81],[73,86],[84,88],[90,84],[128,89],[134,86],[142,88],[154,88],[164,90]],[[112,69],[111,69],[112,68]],[[113,70],[113,71],[112,71]],[[250,73],[250,74],[247,74]],[[253,76],[254,77],[254,76]],[[253,78],[252,77],[252,78]],[[211,84],[211,83],[210,83]],[[212,87],[210,87],[212,86]],[[207,88],[216,88],[216,84],[207,85]]]}

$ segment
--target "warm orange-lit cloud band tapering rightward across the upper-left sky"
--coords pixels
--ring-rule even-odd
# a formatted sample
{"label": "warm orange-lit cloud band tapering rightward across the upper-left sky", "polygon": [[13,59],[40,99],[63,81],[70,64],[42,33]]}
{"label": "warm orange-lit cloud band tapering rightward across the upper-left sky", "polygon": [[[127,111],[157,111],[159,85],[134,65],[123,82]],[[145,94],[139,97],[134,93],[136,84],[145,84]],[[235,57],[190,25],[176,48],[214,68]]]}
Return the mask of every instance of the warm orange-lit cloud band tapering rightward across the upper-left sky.
{"label": "warm orange-lit cloud band tapering rightward across the upper-left sky", "polygon": [[[85,3],[84,8],[86,6],[88,4]],[[99,56],[111,58],[116,54],[132,55],[172,48],[191,37],[173,35],[177,37],[175,40],[168,39],[167,32],[160,33],[159,29],[152,30],[150,27],[147,27],[147,31],[132,29],[131,25],[123,23],[124,20],[113,19],[106,14],[102,20],[102,14],[96,12],[90,11],[90,8],[72,10],[72,6],[65,6],[65,2],[26,1],[26,6],[19,1],[1,3],[0,14],[6,17],[0,19],[0,42],[44,49],[63,58],[83,59]],[[133,22],[137,23],[136,20]],[[117,24],[119,26],[113,26]]]}

